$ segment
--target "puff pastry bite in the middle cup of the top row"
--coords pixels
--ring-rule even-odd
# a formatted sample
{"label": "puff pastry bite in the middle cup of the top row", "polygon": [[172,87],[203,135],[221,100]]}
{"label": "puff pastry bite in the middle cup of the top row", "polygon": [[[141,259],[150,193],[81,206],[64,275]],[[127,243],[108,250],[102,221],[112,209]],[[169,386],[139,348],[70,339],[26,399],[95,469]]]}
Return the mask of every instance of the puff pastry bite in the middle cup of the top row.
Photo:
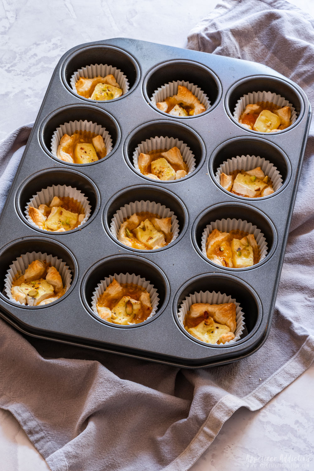
{"label": "puff pastry bite in the middle cup of the top row", "polygon": [[156,103],[159,110],[172,116],[194,116],[204,113],[205,106],[193,95],[193,93],[182,85],[178,85],[177,95]]}

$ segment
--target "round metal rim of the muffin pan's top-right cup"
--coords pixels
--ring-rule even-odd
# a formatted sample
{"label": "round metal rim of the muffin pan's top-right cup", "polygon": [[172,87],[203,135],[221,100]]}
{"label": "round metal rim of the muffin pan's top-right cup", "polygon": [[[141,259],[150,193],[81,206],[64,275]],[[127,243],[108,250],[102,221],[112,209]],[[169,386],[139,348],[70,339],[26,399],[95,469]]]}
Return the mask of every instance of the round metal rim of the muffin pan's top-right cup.
{"label": "round metal rim of the muffin pan's top-right cup", "polygon": [[[286,129],[282,129],[282,130],[279,130],[279,131],[276,131],[276,132],[260,132],[260,131],[255,131],[253,129],[247,129],[245,128],[244,126],[242,126],[238,121],[236,121],[234,119],[234,116],[233,116],[233,111],[231,111],[230,109],[230,97],[231,97],[231,94],[233,93],[233,91],[239,86],[239,85],[242,85],[242,84],[245,84],[245,82],[249,81],[250,79],[269,79],[269,80],[272,80],[272,81],[279,81],[279,82],[282,82],[284,85],[290,87],[290,89],[293,90],[293,92],[298,96],[298,99],[300,101],[300,112],[298,113],[298,116],[297,116],[297,119],[296,121],[293,123],[293,124],[290,124],[290,126],[288,126],[288,128]],[[297,84],[295,84],[297,85]],[[259,91],[259,90],[256,90],[256,91]],[[260,90],[260,91],[264,91],[264,90]],[[265,91],[268,91],[268,90],[265,90]],[[238,99],[240,99],[241,97],[239,97]],[[292,105],[294,105],[294,103],[292,103]],[[225,112],[226,114],[228,115],[228,117],[233,121],[234,124],[236,124],[237,126],[239,126],[243,131],[245,132],[249,132],[251,133],[253,136],[277,136],[277,135],[281,135],[283,134],[284,132],[287,132],[287,131],[290,131],[292,130],[293,128],[295,128],[296,126],[298,126],[299,122],[302,121],[303,119],[303,116],[304,116],[304,112],[305,112],[305,105],[304,105],[304,100],[303,100],[303,97],[301,96],[301,94],[299,93],[298,89],[296,86],[292,86],[291,83],[289,83],[289,81],[286,81],[284,79],[282,79],[281,77],[276,77],[276,76],[272,76],[272,75],[248,75],[244,78],[242,78],[241,80],[238,80],[238,81],[235,81],[230,87],[229,89],[226,91],[226,94],[225,94],[225,99],[224,99],[224,106],[225,106]]]}

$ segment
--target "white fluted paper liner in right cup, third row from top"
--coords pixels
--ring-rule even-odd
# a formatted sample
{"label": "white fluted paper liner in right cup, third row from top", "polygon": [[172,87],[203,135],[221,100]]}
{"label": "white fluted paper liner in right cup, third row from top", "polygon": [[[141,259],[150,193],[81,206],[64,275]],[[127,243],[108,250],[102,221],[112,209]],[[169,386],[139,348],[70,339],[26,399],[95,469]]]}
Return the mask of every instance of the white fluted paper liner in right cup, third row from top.
{"label": "white fluted paper liner in right cup, third row from top", "polygon": [[[201,237],[201,251],[203,255],[205,255],[206,258],[207,258],[207,254],[206,254],[207,239],[208,239],[209,234],[214,229],[217,229],[218,231],[221,231],[221,232],[230,232],[232,230],[239,229],[240,231],[253,234],[257,244],[259,245],[260,257],[259,257],[258,262],[265,259],[268,248],[267,248],[266,239],[264,237],[264,234],[261,232],[261,230],[258,229],[256,226],[253,226],[251,222],[242,221],[242,219],[230,219],[230,218],[221,219],[221,220],[217,219],[216,221],[211,222],[208,226],[205,227],[204,232]],[[234,268],[230,268],[230,270],[233,270],[233,269]]]}

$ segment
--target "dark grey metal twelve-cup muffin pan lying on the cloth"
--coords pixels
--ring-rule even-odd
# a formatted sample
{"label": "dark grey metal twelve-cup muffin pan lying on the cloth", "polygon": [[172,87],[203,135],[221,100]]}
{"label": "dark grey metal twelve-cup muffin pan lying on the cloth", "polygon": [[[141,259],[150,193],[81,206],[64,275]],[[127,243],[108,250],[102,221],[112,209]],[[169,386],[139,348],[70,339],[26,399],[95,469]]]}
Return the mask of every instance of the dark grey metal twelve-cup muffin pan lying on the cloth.
{"label": "dark grey metal twelve-cup muffin pan lying on the cloth", "polygon": [[[90,64],[119,68],[129,81],[127,94],[96,102],[74,93],[72,74]],[[200,87],[209,98],[209,110],[191,118],[160,112],[150,98],[169,81]],[[289,100],[298,113],[295,124],[267,134],[237,124],[232,113],[238,99],[258,90]],[[224,365],[253,354],[271,326],[310,118],[302,89],[261,64],[123,38],[72,48],[56,66],[0,215],[0,316],[42,339],[186,368]],[[104,127],[113,150],[91,164],[55,158],[50,147],[55,130],[80,120]],[[195,170],[167,182],[136,171],[135,148],[156,136],[178,139],[190,147]],[[215,174],[224,161],[237,155],[269,160],[282,175],[282,187],[264,198],[225,191]],[[60,235],[27,222],[26,203],[52,185],[77,188],[88,197],[91,215],[82,227]],[[169,245],[137,250],[111,233],[116,211],[142,200],[165,205],[176,215],[179,233]],[[224,268],[202,254],[204,228],[227,218],[246,220],[264,234],[267,255],[258,264]],[[27,252],[52,254],[69,266],[72,283],[59,300],[35,308],[8,299],[4,279],[9,265]],[[115,273],[134,273],[154,285],[160,301],[153,317],[129,328],[96,316],[91,309],[93,292]],[[179,325],[182,300],[201,291],[220,292],[240,303],[245,330],[239,340],[205,344]]]}

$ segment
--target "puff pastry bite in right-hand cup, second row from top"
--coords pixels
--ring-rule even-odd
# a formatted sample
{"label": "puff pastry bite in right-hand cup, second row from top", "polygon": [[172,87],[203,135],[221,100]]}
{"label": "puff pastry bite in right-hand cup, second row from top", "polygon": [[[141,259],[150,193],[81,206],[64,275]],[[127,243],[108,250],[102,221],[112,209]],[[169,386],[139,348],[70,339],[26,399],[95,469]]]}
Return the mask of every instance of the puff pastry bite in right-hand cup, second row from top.
{"label": "puff pastry bite in right-hand cup, second row from top", "polygon": [[265,175],[260,167],[252,170],[235,170],[226,175],[220,175],[220,185],[234,195],[257,198],[274,193],[271,179]]}

